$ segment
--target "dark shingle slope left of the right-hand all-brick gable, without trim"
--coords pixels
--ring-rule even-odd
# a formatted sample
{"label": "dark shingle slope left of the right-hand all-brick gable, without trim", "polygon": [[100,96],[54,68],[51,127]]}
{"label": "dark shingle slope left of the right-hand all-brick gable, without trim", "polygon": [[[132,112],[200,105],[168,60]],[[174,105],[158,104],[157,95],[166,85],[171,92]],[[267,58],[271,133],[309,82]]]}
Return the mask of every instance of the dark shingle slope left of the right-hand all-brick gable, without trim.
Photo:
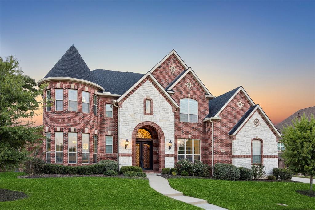
{"label": "dark shingle slope left of the right-hand all-brick gable, without trim", "polygon": [[221,96],[217,96],[214,99],[210,100],[209,114],[205,118],[214,117],[240,87],[235,88],[227,93],[222,94]]}

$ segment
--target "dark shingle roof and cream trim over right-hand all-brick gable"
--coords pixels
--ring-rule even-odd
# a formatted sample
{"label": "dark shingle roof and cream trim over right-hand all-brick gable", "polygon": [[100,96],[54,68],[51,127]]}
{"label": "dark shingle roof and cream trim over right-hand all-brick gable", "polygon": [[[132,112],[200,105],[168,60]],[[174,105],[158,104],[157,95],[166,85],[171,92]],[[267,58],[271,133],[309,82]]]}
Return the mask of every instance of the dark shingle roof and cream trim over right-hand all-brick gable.
{"label": "dark shingle roof and cream trim over right-hand all-brick gable", "polygon": [[246,93],[244,88],[242,86],[239,86],[238,88],[235,88],[227,93],[222,94],[221,96],[217,96],[214,99],[210,100],[209,114],[205,117],[205,119],[211,117],[218,117],[222,110],[231,102],[231,100],[236,96],[236,94],[238,94],[239,91],[243,92],[244,96],[247,98],[247,100],[252,106],[255,105],[255,103]]}

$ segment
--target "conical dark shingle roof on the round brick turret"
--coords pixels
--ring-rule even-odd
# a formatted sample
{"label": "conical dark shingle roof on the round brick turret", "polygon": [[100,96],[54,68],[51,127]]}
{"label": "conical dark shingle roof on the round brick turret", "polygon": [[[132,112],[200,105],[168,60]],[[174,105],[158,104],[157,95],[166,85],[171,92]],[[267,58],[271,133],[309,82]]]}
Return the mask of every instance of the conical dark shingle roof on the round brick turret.
{"label": "conical dark shingle roof on the round brick turret", "polygon": [[98,84],[89,67],[83,61],[83,58],[72,45],[54,67],[44,77],[70,77],[76,79],[84,79]]}

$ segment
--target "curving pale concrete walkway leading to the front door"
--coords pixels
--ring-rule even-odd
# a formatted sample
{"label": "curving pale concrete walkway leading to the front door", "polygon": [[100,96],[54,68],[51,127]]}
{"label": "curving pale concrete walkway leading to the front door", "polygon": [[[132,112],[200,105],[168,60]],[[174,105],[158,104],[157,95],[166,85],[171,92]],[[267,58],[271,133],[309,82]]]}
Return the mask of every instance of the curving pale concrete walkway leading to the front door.
{"label": "curving pale concrete walkway leading to the front door", "polygon": [[189,203],[207,210],[227,210],[225,208],[210,204],[207,200],[183,195],[182,192],[171,188],[169,181],[166,178],[157,176],[156,174],[147,174],[147,178],[149,179],[150,187],[170,198],[174,198],[176,200],[183,201],[185,203]]}

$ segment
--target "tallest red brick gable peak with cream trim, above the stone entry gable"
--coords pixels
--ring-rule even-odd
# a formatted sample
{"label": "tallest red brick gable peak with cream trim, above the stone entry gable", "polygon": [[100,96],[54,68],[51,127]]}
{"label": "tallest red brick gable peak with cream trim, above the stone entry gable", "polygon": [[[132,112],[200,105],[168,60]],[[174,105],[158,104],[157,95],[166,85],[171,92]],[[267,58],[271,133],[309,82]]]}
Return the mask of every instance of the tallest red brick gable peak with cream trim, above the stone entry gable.
{"label": "tallest red brick gable peak with cream trim, above the stone entry gable", "polygon": [[[175,67],[175,70],[172,71],[172,67]],[[172,50],[155,67],[153,67],[150,72],[165,89],[187,68],[188,67],[184,61],[181,60],[176,51]]]}

